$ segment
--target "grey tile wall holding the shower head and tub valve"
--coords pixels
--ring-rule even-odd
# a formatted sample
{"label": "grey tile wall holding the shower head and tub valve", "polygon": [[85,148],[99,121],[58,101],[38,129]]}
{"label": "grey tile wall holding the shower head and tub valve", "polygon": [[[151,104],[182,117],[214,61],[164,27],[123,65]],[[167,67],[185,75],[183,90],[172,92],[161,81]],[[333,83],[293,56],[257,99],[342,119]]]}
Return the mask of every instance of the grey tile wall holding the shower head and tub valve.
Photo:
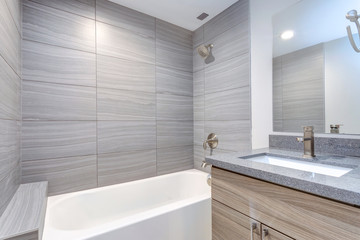
{"label": "grey tile wall holding the shower head and tub valve", "polygon": [[[214,44],[204,63],[196,47]],[[194,166],[205,155],[202,142],[218,135],[213,154],[251,148],[249,1],[240,0],[193,33]],[[207,171],[205,169],[205,171]]]}

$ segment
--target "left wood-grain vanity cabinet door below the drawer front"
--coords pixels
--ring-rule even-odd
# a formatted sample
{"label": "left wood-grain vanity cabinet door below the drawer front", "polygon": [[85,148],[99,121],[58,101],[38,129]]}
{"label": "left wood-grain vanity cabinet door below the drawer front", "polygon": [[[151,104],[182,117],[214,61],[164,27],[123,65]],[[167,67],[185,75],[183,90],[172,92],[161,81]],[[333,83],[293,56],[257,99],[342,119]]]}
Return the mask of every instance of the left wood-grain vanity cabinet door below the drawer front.
{"label": "left wood-grain vanity cabinet door below the drawer front", "polygon": [[213,200],[212,239],[261,240],[260,223]]}

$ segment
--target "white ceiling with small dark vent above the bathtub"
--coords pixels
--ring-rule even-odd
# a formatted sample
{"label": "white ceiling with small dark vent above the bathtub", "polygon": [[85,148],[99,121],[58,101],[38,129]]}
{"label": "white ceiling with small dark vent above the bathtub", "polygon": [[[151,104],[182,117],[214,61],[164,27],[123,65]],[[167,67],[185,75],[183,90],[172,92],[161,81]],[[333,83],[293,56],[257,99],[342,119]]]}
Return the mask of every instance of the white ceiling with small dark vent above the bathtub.
{"label": "white ceiling with small dark vent above the bathtub", "polygon": [[[110,0],[166,22],[194,31],[238,0]],[[201,13],[209,16],[200,21]]]}

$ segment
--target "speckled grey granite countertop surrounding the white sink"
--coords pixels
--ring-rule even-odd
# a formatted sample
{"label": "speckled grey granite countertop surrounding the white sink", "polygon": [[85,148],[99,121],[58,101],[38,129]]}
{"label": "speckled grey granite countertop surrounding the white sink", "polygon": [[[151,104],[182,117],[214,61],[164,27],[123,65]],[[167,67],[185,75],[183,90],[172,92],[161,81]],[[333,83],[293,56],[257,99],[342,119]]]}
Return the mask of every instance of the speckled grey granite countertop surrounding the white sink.
{"label": "speckled grey granite countertop surrounding the white sink", "polygon": [[[332,177],[242,158],[261,153],[270,153],[353,170],[340,177]],[[297,151],[265,148],[248,152],[207,156],[206,162],[218,168],[360,207],[360,158],[321,154],[313,159],[302,159],[302,155],[302,152]]]}

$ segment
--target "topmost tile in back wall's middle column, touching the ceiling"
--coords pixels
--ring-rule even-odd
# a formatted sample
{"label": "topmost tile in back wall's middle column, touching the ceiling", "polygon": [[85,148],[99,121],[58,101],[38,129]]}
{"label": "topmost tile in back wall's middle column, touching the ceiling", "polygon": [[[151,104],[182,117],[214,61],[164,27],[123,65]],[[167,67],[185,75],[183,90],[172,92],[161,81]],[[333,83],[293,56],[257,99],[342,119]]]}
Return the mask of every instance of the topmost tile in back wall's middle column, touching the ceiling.
{"label": "topmost tile in back wall's middle column, touching the ceiling", "polygon": [[107,0],[96,1],[96,20],[155,37],[155,18]]}

